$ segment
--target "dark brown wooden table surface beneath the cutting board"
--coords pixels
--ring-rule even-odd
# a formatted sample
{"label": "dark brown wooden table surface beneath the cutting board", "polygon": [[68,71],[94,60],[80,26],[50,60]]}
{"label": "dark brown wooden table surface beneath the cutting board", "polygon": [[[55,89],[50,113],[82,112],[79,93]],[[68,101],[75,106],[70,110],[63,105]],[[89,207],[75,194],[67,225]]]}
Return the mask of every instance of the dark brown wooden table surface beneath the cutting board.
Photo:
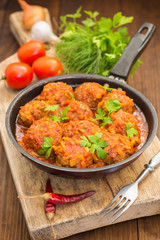
{"label": "dark brown wooden table surface beneath the cutting board", "polygon": [[[52,20],[54,19],[53,22],[59,22],[59,16],[74,13],[79,6],[82,6],[84,10],[96,10],[100,16],[104,17],[112,17],[118,11],[121,11],[125,16],[134,16],[133,23],[129,25],[130,35],[134,34],[143,22],[155,24],[156,33],[140,58],[144,64],[137,70],[133,78],[129,77],[128,82],[152,102],[158,117],[160,117],[159,0],[28,0],[28,2],[48,8]],[[19,47],[9,29],[9,15],[19,10],[20,7],[16,0],[0,1],[0,61],[15,53]],[[56,26],[55,33],[58,34]],[[157,135],[160,137],[160,128]],[[30,240],[1,140],[0,183],[0,239]],[[158,240],[160,239],[160,215],[135,219],[66,238],[66,240],[69,239]]]}

